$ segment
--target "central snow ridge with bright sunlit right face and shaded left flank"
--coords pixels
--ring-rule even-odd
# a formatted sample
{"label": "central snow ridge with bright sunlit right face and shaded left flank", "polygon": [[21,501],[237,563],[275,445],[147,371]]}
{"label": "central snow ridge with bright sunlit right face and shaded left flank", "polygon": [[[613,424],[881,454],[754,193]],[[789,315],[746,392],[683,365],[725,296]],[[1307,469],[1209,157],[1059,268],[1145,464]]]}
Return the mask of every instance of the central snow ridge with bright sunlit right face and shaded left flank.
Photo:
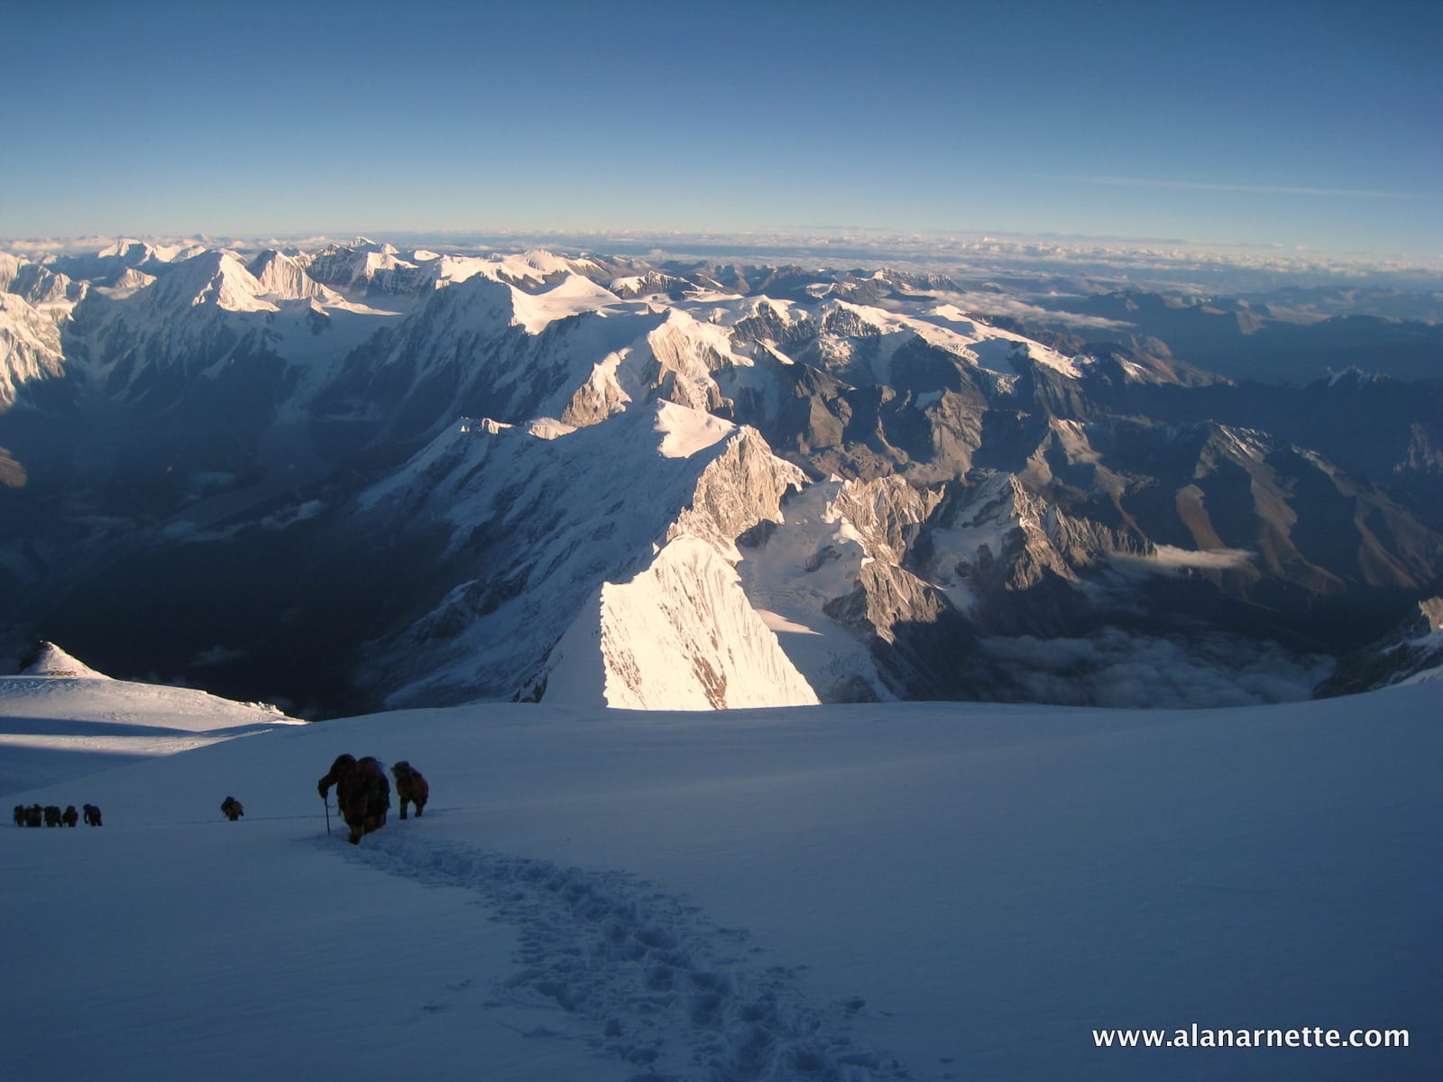
{"label": "central snow ridge with bright sunlit right face and shaded left flank", "polygon": [[463,421],[362,496],[465,577],[372,677],[395,703],[551,694],[558,667],[573,704],[814,703],[729,566],[802,482],[755,431],[671,403],[584,428]]}

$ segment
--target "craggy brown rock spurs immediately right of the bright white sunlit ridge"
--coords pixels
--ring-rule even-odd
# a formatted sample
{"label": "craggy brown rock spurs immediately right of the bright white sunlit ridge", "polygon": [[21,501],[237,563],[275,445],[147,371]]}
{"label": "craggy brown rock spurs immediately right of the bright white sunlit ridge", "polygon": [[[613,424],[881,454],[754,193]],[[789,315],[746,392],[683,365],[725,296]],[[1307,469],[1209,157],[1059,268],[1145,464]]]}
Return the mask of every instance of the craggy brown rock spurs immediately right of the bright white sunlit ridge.
{"label": "craggy brown rock spurs immediately right of the bright white sunlit ridge", "polygon": [[[830,700],[997,694],[978,626],[1056,633],[1087,607],[1084,573],[1152,554],[1012,475],[955,491],[895,476],[812,485],[782,512],[745,540],[743,581],[759,609],[811,632],[782,645]],[[838,629],[867,656],[838,646]]]}

